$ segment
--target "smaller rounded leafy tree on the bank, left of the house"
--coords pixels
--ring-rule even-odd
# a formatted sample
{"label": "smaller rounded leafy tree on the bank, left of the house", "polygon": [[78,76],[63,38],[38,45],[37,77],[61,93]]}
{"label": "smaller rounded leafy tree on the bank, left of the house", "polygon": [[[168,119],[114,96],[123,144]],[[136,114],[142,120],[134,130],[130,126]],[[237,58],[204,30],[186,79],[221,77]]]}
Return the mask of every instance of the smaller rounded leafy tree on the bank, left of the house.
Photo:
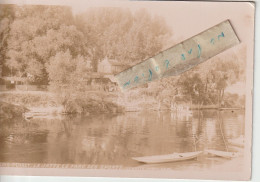
{"label": "smaller rounded leafy tree on the bank, left of the house", "polygon": [[[65,111],[70,110],[68,107],[71,107],[71,104],[78,106],[72,101],[79,96],[84,97],[85,78],[91,71],[89,61],[82,56],[73,58],[70,50],[67,49],[65,52],[60,51],[51,57],[49,63],[46,63],[46,67],[50,85],[57,93],[57,100],[64,106]],[[82,102],[82,100],[78,99],[78,102]]]}

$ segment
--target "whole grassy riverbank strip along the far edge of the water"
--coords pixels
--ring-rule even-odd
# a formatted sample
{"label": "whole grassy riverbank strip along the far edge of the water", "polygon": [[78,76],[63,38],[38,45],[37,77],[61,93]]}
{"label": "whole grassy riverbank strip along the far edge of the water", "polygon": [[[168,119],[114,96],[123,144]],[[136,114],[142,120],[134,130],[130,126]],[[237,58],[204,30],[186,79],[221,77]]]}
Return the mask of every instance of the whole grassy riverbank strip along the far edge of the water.
{"label": "whole grassy riverbank strip along the far edge of the water", "polygon": [[[52,114],[97,114],[97,113],[122,113],[139,112],[144,110],[171,110],[168,104],[159,104],[152,99],[127,99],[115,93],[86,92],[82,95],[65,98],[52,92],[44,91],[9,91],[0,92],[0,101],[4,103],[22,106],[28,109],[29,116],[46,116]],[[129,99],[129,100],[128,100]],[[63,100],[63,101],[61,101]],[[130,102],[131,101],[131,102]],[[180,105],[181,106],[181,105]],[[11,106],[10,106],[11,108]],[[218,109],[236,110],[241,107],[221,107],[218,105],[192,105],[188,110]],[[10,112],[15,112],[11,108]],[[9,113],[10,114],[10,113]],[[13,115],[21,115],[20,112]]]}

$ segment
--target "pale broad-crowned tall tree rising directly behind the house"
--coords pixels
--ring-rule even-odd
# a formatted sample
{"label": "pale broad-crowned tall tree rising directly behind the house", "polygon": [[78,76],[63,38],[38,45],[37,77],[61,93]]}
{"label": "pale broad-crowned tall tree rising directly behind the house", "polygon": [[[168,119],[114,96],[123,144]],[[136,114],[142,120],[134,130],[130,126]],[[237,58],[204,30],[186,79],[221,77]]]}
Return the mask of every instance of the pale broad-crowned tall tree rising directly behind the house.
{"label": "pale broad-crowned tall tree rising directly behind the house", "polygon": [[94,70],[105,57],[135,64],[158,53],[170,39],[163,19],[147,11],[132,13],[123,8],[96,8],[76,17],[87,39]]}

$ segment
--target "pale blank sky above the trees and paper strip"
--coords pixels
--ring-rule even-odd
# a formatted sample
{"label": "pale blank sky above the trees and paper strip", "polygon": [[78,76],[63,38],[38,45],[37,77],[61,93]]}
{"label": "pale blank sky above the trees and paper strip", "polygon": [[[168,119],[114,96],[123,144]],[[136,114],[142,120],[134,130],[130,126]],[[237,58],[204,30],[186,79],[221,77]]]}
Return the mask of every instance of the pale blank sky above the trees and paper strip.
{"label": "pale blank sky above the trees and paper strip", "polygon": [[[254,6],[248,2],[181,2],[181,1],[127,1],[127,0],[1,0],[7,4],[44,4],[71,6],[75,14],[91,7],[124,7],[132,11],[145,8],[164,17],[177,41],[194,36],[229,19],[241,41],[252,41]],[[250,40],[251,39],[251,40]]]}

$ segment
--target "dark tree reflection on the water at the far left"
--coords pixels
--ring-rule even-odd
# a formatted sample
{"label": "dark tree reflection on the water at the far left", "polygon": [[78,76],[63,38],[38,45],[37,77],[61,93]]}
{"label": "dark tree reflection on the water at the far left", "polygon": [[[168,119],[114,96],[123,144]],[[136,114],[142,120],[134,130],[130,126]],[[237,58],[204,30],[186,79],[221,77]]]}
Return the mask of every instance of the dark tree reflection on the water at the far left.
{"label": "dark tree reflection on the water at the far left", "polygon": [[47,130],[41,130],[40,124],[25,122],[23,119],[1,123],[0,161],[44,162],[48,133]]}

